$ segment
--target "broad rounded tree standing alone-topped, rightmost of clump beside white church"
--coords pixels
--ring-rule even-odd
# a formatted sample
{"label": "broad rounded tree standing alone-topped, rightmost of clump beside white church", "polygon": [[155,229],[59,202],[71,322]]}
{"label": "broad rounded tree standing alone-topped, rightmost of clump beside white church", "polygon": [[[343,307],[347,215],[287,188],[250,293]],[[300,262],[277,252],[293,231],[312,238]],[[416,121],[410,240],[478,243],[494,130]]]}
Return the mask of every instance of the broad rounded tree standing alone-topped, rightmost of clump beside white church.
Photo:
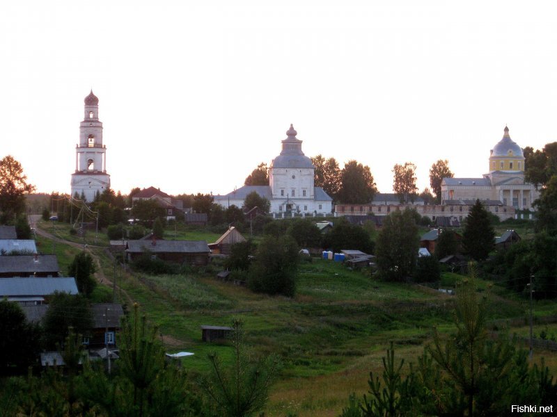
{"label": "broad rounded tree standing alone-topped, rightmost of clump beside white church", "polygon": [[338,200],[346,204],[367,204],[377,194],[377,186],[368,165],[348,161],[340,172]]}

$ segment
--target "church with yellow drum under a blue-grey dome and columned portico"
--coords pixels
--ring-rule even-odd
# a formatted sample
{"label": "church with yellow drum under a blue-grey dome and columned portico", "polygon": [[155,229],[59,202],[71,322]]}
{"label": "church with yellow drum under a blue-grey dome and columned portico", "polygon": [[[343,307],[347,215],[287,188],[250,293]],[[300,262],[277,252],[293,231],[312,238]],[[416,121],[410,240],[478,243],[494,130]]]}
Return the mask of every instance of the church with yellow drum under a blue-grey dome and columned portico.
{"label": "church with yellow drum under a blue-grey dome and columned portico", "polygon": [[503,138],[489,154],[489,173],[481,178],[444,178],[441,182],[441,204],[464,200],[500,202],[515,210],[532,210],[540,193],[524,181],[524,154],[505,126]]}

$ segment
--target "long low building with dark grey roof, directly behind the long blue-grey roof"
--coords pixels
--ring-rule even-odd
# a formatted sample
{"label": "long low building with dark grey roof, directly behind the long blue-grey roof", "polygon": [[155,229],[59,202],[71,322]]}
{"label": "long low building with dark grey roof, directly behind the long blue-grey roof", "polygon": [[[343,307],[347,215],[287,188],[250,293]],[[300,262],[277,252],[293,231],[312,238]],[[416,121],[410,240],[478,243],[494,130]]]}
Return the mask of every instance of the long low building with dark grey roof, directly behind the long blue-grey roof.
{"label": "long low building with dark grey roof, directly behind the long blue-grey roof", "polygon": [[58,277],[56,255],[0,256],[0,277]]}

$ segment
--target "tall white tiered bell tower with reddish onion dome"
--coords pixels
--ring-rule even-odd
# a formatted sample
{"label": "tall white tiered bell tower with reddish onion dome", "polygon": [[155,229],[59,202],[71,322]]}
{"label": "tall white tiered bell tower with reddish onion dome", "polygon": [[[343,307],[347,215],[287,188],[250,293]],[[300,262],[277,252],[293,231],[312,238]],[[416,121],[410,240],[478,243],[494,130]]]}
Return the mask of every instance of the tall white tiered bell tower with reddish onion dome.
{"label": "tall white tiered bell tower with reddish onion dome", "polygon": [[92,202],[97,192],[102,194],[110,188],[110,175],[107,174],[107,147],[102,145],[99,99],[91,90],[84,101],[84,120],[79,124],[79,143],[75,145],[72,196],[77,193]]}

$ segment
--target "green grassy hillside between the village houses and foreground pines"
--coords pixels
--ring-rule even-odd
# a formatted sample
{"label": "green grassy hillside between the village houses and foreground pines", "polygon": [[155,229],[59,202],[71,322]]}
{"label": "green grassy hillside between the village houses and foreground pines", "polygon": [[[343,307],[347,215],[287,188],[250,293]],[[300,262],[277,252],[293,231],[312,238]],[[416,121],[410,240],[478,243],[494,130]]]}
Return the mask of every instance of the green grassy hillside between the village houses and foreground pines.
{"label": "green grassy hillside between the village houses and foreground pines", "polygon": [[[207,241],[220,236],[196,230],[180,233],[178,238]],[[166,234],[172,238],[173,230]],[[42,248],[52,248],[49,240],[38,241]],[[113,277],[113,262],[104,248],[92,250],[100,257],[105,275]],[[57,243],[55,252],[62,266],[69,264],[77,250]],[[276,353],[282,358],[281,373],[265,409],[268,416],[337,416],[350,393],[367,391],[369,372],[380,373],[390,341],[395,343],[398,358],[416,362],[430,341],[433,326],[445,334],[453,329],[453,297],[423,286],[377,281],[332,261],[301,263],[293,298],[251,293],[214,279],[214,270],[151,276],[117,268],[116,282],[139,302],[162,334],[173,338],[168,352],[194,352],[182,361],[192,377],[209,370],[209,352],[217,352],[225,362],[232,360],[230,346],[201,342],[200,326],[230,325],[233,318],[242,318],[249,351],[254,356]],[[462,278],[444,273],[442,282],[454,286]],[[489,293],[490,320],[526,317],[524,298],[499,287],[488,291],[487,281],[478,280],[477,286],[478,291]],[[94,296],[105,300],[111,294],[111,288],[101,285]],[[118,298],[128,303],[123,294],[118,293]],[[537,315],[557,313],[555,303],[547,301],[535,302],[534,310]],[[555,325],[539,325],[535,332],[540,334],[546,327],[548,334],[557,336]],[[542,354],[556,375],[556,355],[535,352],[535,357]]]}

